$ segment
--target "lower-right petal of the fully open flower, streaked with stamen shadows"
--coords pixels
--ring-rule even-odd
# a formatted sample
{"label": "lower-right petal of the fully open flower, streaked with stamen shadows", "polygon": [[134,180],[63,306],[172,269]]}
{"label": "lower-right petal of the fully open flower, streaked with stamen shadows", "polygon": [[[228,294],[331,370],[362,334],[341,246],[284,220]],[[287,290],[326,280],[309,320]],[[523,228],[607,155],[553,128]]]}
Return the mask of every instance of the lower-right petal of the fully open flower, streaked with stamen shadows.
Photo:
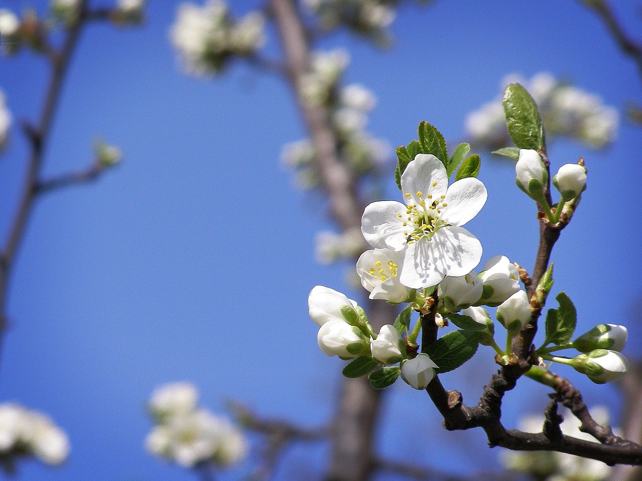
{"label": "lower-right petal of the fully open flower, streaked with stamen shadows", "polygon": [[428,243],[429,257],[444,276],[465,276],[482,258],[482,243],[463,227],[443,227]]}

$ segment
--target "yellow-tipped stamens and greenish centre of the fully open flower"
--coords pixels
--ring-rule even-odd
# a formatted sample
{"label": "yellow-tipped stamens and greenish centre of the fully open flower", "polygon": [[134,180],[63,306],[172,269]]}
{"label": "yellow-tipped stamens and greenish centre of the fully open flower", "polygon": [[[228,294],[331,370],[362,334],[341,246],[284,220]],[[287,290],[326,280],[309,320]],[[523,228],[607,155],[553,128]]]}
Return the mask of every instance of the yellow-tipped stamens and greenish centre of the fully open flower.
{"label": "yellow-tipped stamens and greenish centre of the fully open flower", "polygon": [[[412,194],[405,194],[405,196],[411,198]],[[417,192],[415,196],[419,198],[419,205],[416,203],[406,205],[406,220],[403,222],[404,226],[409,227],[407,231],[404,231],[408,244],[421,239],[430,241],[440,228],[449,225],[440,218],[442,208],[447,207],[444,202],[446,196],[433,199],[432,194],[424,196],[421,191]],[[402,217],[403,214],[399,214],[399,216]]]}

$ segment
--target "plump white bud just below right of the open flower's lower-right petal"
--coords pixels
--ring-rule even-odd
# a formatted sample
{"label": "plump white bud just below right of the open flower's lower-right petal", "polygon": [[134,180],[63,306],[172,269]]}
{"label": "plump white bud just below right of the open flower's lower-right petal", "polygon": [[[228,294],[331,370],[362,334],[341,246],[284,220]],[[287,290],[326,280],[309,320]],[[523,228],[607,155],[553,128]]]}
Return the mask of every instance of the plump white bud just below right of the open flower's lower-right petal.
{"label": "plump white bud just below right of the open flower's lower-right petal", "polygon": [[478,304],[496,307],[519,291],[519,271],[504,255],[491,258],[478,277],[483,282],[482,298]]}

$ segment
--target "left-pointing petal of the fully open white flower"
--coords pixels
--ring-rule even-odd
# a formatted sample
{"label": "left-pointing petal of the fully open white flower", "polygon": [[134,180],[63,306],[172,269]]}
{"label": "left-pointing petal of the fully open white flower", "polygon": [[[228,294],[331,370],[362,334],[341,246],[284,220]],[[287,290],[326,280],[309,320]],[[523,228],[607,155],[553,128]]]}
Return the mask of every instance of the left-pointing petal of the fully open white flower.
{"label": "left-pointing petal of the fully open white flower", "polygon": [[[401,214],[402,217],[399,217]],[[370,246],[401,251],[406,246],[408,227],[403,226],[406,206],[397,201],[372,202],[361,217],[361,232]]]}

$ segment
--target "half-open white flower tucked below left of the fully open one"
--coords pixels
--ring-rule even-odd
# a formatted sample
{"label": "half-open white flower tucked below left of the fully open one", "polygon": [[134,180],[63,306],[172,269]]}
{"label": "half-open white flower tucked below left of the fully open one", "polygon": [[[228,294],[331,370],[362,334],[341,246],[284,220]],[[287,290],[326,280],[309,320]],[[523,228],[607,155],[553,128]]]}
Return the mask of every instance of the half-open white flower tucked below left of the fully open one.
{"label": "half-open white flower tucked below left of the fully open one", "polygon": [[397,272],[401,253],[390,249],[365,251],[357,261],[361,285],[370,292],[370,299],[403,302],[410,289],[399,282]]}

